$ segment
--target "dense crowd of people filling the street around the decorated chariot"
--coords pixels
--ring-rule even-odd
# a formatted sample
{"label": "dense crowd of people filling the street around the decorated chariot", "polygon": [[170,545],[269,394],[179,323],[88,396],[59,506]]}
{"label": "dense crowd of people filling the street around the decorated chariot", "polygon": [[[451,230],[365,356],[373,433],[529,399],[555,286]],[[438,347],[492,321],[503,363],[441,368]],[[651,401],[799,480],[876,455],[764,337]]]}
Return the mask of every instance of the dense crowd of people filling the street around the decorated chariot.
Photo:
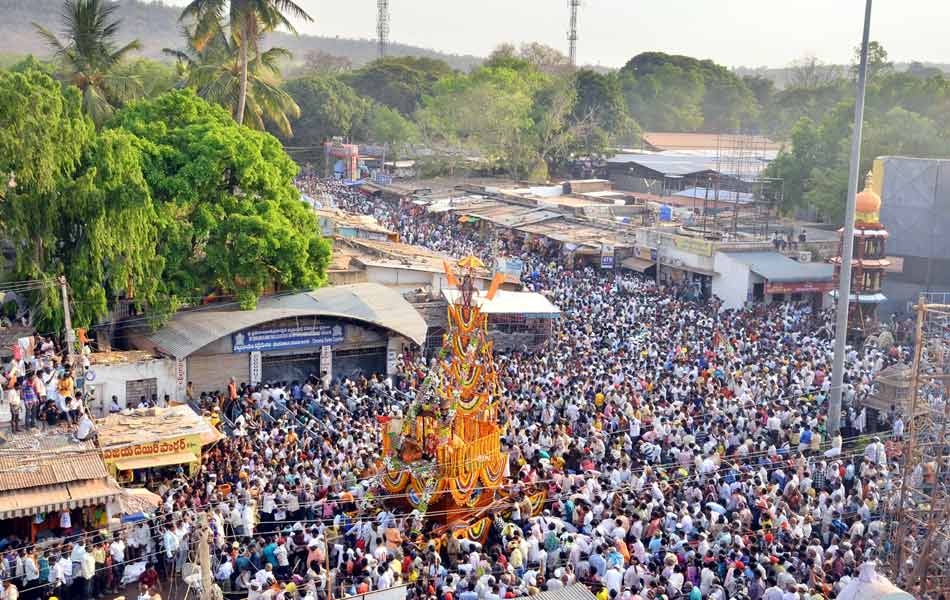
{"label": "dense crowd of people filling the street around the decorated chariot", "polygon": [[844,426],[828,431],[829,312],[721,310],[336,182],[306,185],[407,243],[489,264],[500,246],[560,307],[542,349],[495,359],[509,465],[492,526],[484,543],[441,536],[438,519],[397,510],[378,484],[377,417],[422,393],[432,362],[420,352],[391,377],[232,380],[196,398],[229,435],[118,540],[154,563],[143,577],[187,576],[205,518],[217,583],[250,600],[400,585],[413,600],[502,600],[574,583],[598,600],[816,600],[888,552],[899,464],[885,442],[902,425],[859,400],[907,348],[849,350]]}

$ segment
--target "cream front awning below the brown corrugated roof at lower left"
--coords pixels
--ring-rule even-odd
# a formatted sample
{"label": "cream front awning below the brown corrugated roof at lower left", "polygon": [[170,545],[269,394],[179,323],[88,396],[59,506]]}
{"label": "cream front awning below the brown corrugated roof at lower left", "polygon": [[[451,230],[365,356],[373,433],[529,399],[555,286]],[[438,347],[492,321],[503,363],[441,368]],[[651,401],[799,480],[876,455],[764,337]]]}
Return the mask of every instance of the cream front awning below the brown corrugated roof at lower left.
{"label": "cream front awning below the brown corrugated roof at lower left", "polygon": [[85,480],[3,492],[0,520],[103,504],[121,491],[105,480]]}

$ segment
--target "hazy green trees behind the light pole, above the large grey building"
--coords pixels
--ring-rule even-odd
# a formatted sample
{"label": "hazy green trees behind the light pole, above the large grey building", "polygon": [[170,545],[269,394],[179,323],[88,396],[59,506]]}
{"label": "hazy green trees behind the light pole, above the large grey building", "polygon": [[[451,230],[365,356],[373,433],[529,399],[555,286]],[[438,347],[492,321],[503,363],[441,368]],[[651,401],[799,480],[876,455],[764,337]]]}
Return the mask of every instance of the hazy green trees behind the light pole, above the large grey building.
{"label": "hazy green trees behind the light pole, above the large grey building", "polygon": [[[878,156],[950,155],[950,79],[926,69],[897,73],[879,44],[873,42],[871,50],[861,173]],[[822,218],[841,223],[854,83],[844,75],[831,79],[807,75],[800,78],[800,86],[776,94],[769,108],[776,123],[793,125],[786,149],[766,174],[785,181],[786,211],[817,211]]]}

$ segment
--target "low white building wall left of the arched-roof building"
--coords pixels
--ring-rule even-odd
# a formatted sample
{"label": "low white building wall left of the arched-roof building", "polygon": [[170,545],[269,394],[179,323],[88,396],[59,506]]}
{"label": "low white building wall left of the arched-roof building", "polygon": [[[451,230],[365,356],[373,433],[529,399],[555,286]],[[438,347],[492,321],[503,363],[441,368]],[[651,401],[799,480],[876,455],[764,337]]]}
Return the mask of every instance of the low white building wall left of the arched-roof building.
{"label": "low white building wall left of the arched-roof building", "polygon": [[[98,411],[109,410],[112,396],[119,400],[119,406],[126,408],[128,403],[133,405],[138,402],[139,396],[146,395],[145,390],[149,386],[145,383],[136,384],[129,382],[144,382],[155,379],[156,394],[161,400],[165,394],[172,400],[183,401],[184,398],[177,397],[175,381],[175,361],[170,358],[156,358],[137,363],[93,365],[92,370],[96,374],[95,381],[91,384],[95,390],[95,403],[93,404],[93,414],[100,414]],[[126,398],[127,390],[132,391],[131,398]],[[138,391],[136,391],[138,390]]]}

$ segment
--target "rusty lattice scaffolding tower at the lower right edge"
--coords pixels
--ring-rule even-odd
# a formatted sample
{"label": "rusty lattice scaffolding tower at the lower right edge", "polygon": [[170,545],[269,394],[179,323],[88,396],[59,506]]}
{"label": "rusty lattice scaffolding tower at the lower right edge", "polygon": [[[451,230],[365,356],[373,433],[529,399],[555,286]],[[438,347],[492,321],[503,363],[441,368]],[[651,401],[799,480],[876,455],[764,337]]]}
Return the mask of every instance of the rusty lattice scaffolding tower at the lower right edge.
{"label": "rusty lattice scaffolding tower at the lower right edge", "polygon": [[918,598],[950,589],[950,304],[922,294],[911,370],[907,441],[900,449],[900,487],[886,506],[885,549],[891,577]]}

